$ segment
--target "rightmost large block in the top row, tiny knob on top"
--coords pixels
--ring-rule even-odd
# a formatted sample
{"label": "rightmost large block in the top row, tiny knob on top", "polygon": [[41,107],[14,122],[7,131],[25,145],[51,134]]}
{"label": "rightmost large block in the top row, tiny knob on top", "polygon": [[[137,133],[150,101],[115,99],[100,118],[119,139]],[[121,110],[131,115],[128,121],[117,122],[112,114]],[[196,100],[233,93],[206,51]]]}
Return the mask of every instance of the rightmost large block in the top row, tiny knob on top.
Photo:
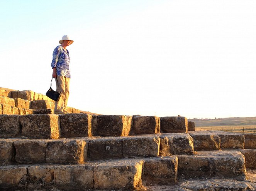
{"label": "rightmost large block in the top row, tiny knob on top", "polygon": [[185,117],[161,117],[160,128],[164,133],[186,133],[188,120]]}

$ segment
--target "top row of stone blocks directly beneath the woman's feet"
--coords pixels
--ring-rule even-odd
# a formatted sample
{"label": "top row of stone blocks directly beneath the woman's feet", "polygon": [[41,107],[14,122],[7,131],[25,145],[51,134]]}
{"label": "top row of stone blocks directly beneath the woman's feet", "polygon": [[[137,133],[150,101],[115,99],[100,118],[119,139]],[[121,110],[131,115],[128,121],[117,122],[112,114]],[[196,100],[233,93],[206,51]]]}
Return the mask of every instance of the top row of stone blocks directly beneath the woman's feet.
{"label": "top row of stone blocks directly beneath the woman's feet", "polygon": [[[39,101],[37,101],[39,103]],[[45,101],[44,101],[45,102]],[[132,123],[132,116],[121,115],[87,115],[83,113],[73,113],[66,115],[51,115],[51,114],[35,114],[25,116],[0,116],[5,120],[0,120],[1,128],[5,131],[12,131],[14,133],[8,133],[8,135],[0,135],[2,138],[15,137],[17,132],[21,131],[22,136],[28,138],[54,138],[61,137],[84,137],[84,136],[128,136],[134,135],[136,132],[155,134],[159,133],[159,118],[156,116],[134,116],[134,126]],[[16,118],[15,128],[9,123],[8,118],[12,121]],[[177,125],[177,129],[185,127],[187,129],[186,118],[184,117],[164,117],[165,121],[168,121],[170,125]],[[60,123],[59,123],[60,122]],[[19,124],[20,123],[20,124]],[[141,125],[139,128],[139,124]],[[146,125],[147,124],[147,125]],[[167,122],[166,122],[167,124]],[[8,129],[12,127],[13,129]],[[165,127],[166,129],[167,127]],[[172,126],[171,129],[175,128]],[[17,130],[20,129],[20,130]],[[59,132],[62,132],[60,134]],[[161,130],[161,127],[160,127]],[[166,130],[167,131],[167,130]],[[170,130],[172,133],[175,131]],[[178,131],[178,130],[177,130]],[[181,130],[183,131],[183,130]],[[47,132],[47,133],[45,133]],[[163,132],[165,132],[163,130]],[[168,130],[169,132],[169,130]],[[57,133],[57,134],[56,134]]]}

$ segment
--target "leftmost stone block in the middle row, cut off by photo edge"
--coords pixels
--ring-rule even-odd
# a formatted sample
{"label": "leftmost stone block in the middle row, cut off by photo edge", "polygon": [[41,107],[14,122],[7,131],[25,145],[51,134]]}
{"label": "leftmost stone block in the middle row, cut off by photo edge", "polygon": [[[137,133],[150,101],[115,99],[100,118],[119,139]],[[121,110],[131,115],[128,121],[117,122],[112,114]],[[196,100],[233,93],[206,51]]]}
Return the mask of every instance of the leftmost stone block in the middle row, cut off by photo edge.
{"label": "leftmost stone block in the middle row, cut off by photo edge", "polygon": [[14,156],[12,140],[0,140],[0,165],[10,164]]}

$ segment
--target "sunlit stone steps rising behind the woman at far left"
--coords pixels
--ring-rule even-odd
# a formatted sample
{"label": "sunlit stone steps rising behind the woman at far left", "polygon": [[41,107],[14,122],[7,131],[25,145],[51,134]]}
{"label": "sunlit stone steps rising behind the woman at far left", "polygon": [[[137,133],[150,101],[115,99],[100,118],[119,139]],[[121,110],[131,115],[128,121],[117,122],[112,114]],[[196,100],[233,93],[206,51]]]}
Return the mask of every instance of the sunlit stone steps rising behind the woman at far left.
{"label": "sunlit stone steps rising behind the woman at far left", "polygon": [[[55,101],[41,93],[0,88],[0,115],[51,114],[54,106]],[[68,107],[68,113],[80,113],[80,110]]]}

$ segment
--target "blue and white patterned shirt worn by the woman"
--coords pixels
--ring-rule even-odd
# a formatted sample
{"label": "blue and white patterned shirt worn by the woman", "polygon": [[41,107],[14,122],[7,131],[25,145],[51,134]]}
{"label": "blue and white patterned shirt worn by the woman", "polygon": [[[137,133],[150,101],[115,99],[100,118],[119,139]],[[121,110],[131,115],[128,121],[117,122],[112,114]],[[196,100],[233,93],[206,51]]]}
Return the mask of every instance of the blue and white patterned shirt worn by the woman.
{"label": "blue and white patterned shirt worn by the woman", "polygon": [[61,45],[53,50],[52,68],[56,67],[57,76],[70,78],[70,54]]}

